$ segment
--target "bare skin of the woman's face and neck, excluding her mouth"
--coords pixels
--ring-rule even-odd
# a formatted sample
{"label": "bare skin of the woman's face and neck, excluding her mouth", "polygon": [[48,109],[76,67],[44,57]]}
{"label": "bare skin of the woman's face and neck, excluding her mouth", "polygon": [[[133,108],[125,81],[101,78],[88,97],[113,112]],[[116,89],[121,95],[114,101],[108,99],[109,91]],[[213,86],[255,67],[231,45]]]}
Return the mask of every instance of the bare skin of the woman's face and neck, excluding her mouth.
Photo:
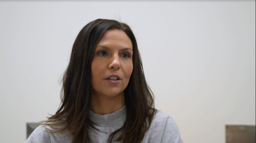
{"label": "bare skin of the woman's face and neck, excluding her mouth", "polygon": [[[91,110],[94,113],[110,114],[125,104],[124,89],[133,71],[132,48],[130,38],[118,29],[107,30],[96,46],[92,61]],[[120,83],[108,83],[105,79],[110,74],[118,74]]]}

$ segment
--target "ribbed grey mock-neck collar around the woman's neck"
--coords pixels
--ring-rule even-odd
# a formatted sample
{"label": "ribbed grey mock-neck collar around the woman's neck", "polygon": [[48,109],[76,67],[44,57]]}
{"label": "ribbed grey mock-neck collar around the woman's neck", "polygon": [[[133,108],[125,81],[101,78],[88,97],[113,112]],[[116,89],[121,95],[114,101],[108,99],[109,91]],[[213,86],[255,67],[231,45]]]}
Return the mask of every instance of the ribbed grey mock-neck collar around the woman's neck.
{"label": "ribbed grey mock-neck collar around the woman's neck", "polygon": [[113,113],[106,115],[99,115],[94,113],[91,109],[89,111],[89,119],[98,125],[111,126],[119,122],[124,123],[126,119],[126,105]]}

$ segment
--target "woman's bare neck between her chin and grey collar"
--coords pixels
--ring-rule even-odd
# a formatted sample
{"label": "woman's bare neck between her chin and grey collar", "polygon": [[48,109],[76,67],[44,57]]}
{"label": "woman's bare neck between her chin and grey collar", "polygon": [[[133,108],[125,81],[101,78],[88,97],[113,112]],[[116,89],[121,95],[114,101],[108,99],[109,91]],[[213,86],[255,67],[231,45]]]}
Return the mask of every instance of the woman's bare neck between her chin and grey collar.
{"label": "woman's bare neck between her chin and grey collar", "polygon": [[91,98],[91,110],[99,115],[106,115],[120,110],[124,104],[123,92],[113,97],[94,93]]}

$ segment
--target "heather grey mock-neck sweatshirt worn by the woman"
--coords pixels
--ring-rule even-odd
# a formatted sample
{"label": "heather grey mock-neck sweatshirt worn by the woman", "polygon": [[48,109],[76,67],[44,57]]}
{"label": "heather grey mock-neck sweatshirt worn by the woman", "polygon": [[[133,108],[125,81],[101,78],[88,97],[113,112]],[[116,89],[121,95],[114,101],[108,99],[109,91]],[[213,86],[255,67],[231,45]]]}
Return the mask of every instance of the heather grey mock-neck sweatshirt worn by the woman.
{"label": "heather grey mock-neck sweatshirt worn by the woman", "polygon": [[[100,126],[96,126],[102,132],[94,129],[88,130],[93,143],[107,143],[109,135],[121,128],[126,119],[126,106],[120,110],[106,115],[98,115],[90,110],[89,119]],[[51,128],[52,129],[52,128]],[[68,130],[59,133],[47,133],[40,125],[28,137],[25,143],[71,143],[72,135],[67,135]],[[115,135],[115,137],[118,134]],[[114,138],[113,138],[114,141]],[[115,142],[114,142],[115,143]],[[158,111],[149,130],[145,133],[141,143],[183,143],[178,126],[169,115]]]}

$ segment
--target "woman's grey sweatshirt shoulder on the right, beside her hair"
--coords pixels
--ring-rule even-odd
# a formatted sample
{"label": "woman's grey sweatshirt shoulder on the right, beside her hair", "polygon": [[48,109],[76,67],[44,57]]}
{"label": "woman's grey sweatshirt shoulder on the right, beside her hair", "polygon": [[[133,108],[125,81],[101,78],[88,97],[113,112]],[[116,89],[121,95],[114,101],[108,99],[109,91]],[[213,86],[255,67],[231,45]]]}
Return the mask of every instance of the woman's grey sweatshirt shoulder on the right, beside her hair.
{"label": "woman's grey sweatshirt shoulder on the right, beside her hair", "polygon": [[183,143],[175,120],[161,111],[156,112],[149,127],[149,134],[156,142]]}

